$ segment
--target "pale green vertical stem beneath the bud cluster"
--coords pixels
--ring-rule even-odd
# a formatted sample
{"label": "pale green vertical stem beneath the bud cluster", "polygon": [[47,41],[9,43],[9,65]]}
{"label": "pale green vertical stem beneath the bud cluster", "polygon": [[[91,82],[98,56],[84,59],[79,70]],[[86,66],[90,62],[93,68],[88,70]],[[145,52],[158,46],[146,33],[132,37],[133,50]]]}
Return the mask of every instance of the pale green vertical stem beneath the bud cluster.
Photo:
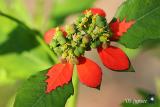
{"label": "pale green vertical stem beneath the bud cluster", "polygon": [[73,83],[73,86],[74,86],[74,95],[71,96],[68,99],[68,101],[66,103],[66,107],[76,107],[76,103],[77,103],[79,80],[78,80],[76,66],[74,66],[74,72],[73,72],[73,76],[72,76],[72,83]]}

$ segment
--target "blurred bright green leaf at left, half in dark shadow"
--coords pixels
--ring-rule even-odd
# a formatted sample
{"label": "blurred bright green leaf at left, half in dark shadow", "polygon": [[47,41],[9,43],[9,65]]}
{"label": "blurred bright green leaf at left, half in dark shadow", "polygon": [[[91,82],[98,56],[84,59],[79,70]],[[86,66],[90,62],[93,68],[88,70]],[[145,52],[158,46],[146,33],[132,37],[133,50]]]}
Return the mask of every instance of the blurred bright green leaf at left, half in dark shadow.
{"label": "blurred bright green leaf at left, half in dark shadow", "polygon": [[3,33],[1,37],[6,37],[5,41],[0,42],[0,70],[3,75],[15,80],[24,79],[52,65],[50,57],[36,40],[37,35],[21,25],[10,28],[9,33],[0,29]]}

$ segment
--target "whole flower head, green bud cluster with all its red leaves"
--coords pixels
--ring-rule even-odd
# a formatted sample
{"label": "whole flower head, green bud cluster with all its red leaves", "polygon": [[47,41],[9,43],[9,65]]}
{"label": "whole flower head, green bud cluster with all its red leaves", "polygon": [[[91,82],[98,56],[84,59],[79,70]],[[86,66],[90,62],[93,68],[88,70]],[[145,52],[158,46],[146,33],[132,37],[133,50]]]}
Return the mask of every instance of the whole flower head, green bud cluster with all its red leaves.
{"label": "whole flower head, green bud cluster with all its red leaves", "polygon": [[118,41],[135,21],[116,19],[108,23],[105,17],[106,13],[102,9],[91,8],[85,10],[73,24],[46,32],[44,40],[60,60],[48,70],[47,93],[68,84],[74,66],[83,84],[98,88],[102,80],[102,70],[97,63],[84,56],[85,51],[91,49],[97,49],[107,68],[113,71],[130,69],[129,58],[120,48],[112,46],[111,42]]}

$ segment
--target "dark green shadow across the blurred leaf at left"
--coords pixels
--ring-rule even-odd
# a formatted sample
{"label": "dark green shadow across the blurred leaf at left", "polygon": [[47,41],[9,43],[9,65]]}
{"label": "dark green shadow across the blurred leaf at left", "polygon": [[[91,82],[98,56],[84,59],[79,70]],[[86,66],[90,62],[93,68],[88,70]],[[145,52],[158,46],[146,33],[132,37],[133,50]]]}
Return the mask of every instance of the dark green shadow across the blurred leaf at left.
{"label": "dark green shadow across the blurred leaf at left", "polygon": [[8,36],[8,40],[0,45],[0,54],[21,53],[39,45],[35,35],[21,26],[13,29]]}

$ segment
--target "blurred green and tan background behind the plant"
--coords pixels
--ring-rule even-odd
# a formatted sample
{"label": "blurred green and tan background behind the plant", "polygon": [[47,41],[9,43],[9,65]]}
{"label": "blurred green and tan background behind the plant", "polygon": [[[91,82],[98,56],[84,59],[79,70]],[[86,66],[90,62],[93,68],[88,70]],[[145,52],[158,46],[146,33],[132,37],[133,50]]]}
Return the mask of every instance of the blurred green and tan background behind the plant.
{"label": "blurred green and tan background behind the plant", "polygon": [[[0,0],[0,11],[44,34],[51,27],[72,23],[82,10],[89,7],[104,9],[110,22],[123,1]],[[110,71],[102,65],[96,50],[87,52],[87,57],[101,65],[104,75],[100,91],[80,84],[77,107],[120,107],[125,98],[141,98],[136,91],[139,88],[160,96],[159,41],[150,40],[138,49],[119,45],[130,57],[135,73]],[[16,90],[23,81],[51,67],[54,64],[51,57],[36,35],[0,16],[0,107],[12,107]]]}

